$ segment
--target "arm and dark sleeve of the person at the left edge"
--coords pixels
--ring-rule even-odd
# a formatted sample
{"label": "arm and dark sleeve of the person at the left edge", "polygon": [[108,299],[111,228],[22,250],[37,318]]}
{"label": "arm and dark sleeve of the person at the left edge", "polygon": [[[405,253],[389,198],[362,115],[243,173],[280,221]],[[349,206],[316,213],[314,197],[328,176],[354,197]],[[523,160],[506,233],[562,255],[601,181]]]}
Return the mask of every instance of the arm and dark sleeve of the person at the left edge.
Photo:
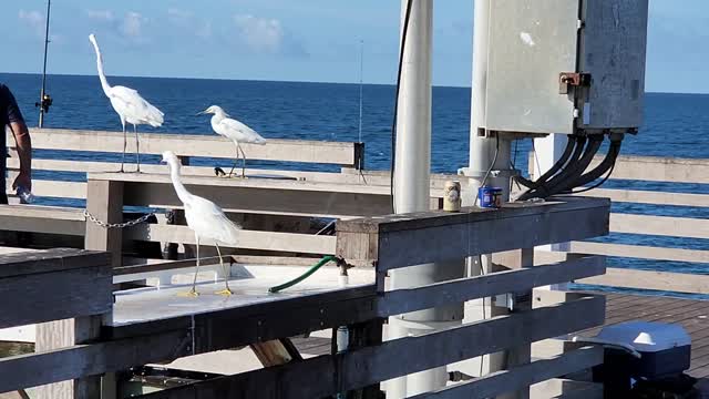
{"label": "arm and dark sleeve of the person at the left edge", "polygon": [[[18,186],[23,186],[28,190],[32,190],[32,140],[30,139],[30,132],[22,117],[22,112],[18,106],[18,102],[14,100],[12,92],[4,85],[0,86],[2,90],[2,96],[7,104],[7,121],[10,123],[10,130],[14,135],[14,141],[18,149],[18,157],[20,158],[20,173],[12,183],[12,190],[17,190]],[[4,156],[4,154],[0,154]]]}

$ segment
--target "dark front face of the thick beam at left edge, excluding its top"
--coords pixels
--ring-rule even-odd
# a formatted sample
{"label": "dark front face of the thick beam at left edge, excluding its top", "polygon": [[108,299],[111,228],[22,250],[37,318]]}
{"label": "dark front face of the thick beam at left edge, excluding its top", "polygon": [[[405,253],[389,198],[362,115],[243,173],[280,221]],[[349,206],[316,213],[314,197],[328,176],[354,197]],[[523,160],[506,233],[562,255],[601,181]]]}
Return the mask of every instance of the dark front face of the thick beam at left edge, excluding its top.
{"label": "dark front face of the thick beam at left edge, excluding its top", "polygon": [[[0,279],[0,328],[111,310],[111,268],[94,266]],[[27,298],[28,300],[23,300]]]}

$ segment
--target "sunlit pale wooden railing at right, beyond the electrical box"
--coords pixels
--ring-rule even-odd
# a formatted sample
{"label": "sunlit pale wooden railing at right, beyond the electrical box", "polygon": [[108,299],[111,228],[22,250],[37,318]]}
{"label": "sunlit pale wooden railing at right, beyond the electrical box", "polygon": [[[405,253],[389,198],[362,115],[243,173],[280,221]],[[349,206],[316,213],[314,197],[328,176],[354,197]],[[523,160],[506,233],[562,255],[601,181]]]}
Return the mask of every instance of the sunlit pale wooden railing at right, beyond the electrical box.
{"label": "sunlit pale wooden railing at right, beyond the electrical box", "polygon": [[[536,171],[534,156],[532,155],[530,160],[530,172],[534,174]],[[645,183],[685,183],[706,187],[709,185],[709,160],[620,156],[612,178]],[[709,194],[671,192],[664,188],[667,187],[667,184],[661,185],[662,188],[653,184],[647,186],[650,188],[597,188],[582,195],[607,197],[615,203],[630,203],[639,206],[655,205],[655,209],[681,206],[687,211],[693,209],[695,215],[709,212]],[[691,214],[691,212],[688,213]],[[644,269],[608,268],[604,276],[583,279],[578,283],[685,294],[709,294],[709,276],[706,274],[660,272],[653,270],[653,267],[649,266],[654,260],[690,263],[698,266],[709,264],[709,249],[706,249],[709,248],[709,245],[703,246],[703,249],[681,248],[687,245],[688,239],[709,239],[709,218],[614,212],[610,214],[610,232],[674,237],[678,241],[675,247],[572,242],[571,250],[575,253],[646,259],[648,263],[648,267],[644,267]]]}

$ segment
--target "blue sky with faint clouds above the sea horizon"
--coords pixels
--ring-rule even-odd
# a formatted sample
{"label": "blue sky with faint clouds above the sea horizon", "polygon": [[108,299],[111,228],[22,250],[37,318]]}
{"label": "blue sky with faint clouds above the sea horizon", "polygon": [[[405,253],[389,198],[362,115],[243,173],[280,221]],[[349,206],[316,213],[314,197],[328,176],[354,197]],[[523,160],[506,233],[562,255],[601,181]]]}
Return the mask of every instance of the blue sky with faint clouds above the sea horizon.
{"label": "blue sky with faint clouds above the sea horizon", "polygon": [[[434,84],[470,85],[472,0],[434,9]],[[678,7],[681,3],[681,7]],[[0,72],[39,72],[45,0],[6,1]],[[399,0],[55,0],[50,73],[356,82],[394,80]],[[709,93],[709,2],[651,0],[647,89]]]}

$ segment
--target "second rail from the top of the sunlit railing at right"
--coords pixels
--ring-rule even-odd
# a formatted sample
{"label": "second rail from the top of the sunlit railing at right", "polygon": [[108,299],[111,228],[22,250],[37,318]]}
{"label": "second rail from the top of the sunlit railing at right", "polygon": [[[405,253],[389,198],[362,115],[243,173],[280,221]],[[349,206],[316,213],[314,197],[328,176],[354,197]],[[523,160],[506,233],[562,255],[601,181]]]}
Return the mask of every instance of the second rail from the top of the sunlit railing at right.
{"label": "second rail from the top of the sunlit railing at right", "polygon": [[707,194],[594,188],[592,191],[585,192],[584,196],[610,198],[610,201],[613,202],[635,204],[709,206],[709,195]]}

